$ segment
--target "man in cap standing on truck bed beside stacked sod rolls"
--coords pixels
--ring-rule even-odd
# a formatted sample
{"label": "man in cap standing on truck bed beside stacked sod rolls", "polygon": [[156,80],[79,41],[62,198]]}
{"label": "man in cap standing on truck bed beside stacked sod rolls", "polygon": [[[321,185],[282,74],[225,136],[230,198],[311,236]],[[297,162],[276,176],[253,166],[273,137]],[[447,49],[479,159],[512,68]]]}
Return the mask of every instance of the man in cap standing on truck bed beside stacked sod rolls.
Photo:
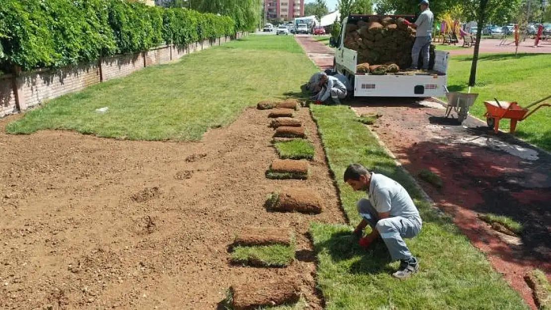
{"label": "man in cap standing on truck bed beside stacked sod rolls", "polygon": [[412,65],[410,69],[417,69],[417,63],[419,62],[419,53],[423,58],[423,69],[429,69],[430,61],[430,42],[433,41],[433,23],[434,15],[433,12],[430,12],[429,1],[421,0],[421,15],[415,20],[415,23],[409,23],[406,20],[406,23],[411,26],[411,28],[417,29],[417,34],[415,34],[415,43],[412,47]]}

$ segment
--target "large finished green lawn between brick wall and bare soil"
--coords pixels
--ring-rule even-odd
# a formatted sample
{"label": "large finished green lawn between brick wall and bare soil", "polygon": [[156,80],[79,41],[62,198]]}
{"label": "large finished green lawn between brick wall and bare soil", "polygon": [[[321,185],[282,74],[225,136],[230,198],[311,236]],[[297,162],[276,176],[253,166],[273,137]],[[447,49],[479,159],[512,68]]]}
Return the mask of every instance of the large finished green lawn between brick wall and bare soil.
{"label": "large finished green lawn between brick wall and bare soil", "polygon": [[[293,36],[250,36],[53,99],[7,132],[73,129],[132,140],[198,140],[247,106],[300,91],[314,72]],[[95,112],[101,107],[109,111]]]}

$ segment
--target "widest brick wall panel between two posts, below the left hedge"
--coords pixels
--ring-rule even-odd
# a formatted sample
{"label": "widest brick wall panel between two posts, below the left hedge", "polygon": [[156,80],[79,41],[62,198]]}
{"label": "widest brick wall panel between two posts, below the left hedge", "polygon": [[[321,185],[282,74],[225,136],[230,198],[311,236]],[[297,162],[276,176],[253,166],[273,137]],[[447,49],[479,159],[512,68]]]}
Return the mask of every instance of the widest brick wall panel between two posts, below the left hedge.
{"label": "widest brick wall panel between two posts, below the left hedge", "polygon": [[29,108],[41,104],[46,99],[100,83],[100,70],[97,63],[82,64],[59,70],[25,72],[17,77],[17,81],[24,97],[24,106]]}

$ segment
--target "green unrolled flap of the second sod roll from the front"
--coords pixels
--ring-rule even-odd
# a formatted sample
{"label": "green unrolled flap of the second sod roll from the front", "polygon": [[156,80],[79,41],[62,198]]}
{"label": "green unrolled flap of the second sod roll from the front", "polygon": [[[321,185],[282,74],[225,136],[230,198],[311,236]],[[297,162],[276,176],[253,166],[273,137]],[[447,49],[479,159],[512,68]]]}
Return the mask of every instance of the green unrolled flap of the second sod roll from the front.
{"label": "green unrolled flap of the second sod roll from the front", "polygon": [[233,264],[251,267],[283,268],[295,259],[294,244],[272,244],[270,246],[237,246],[232,249]]}

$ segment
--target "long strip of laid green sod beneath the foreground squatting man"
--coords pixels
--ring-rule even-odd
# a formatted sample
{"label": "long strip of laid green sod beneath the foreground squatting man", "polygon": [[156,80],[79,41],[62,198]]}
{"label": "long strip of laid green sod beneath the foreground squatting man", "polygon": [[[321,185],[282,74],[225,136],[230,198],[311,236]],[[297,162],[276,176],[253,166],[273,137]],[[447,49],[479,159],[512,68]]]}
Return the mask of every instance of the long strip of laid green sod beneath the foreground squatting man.
{"label": "long strip of laid green sod beneath the foreground squatting man", "polygon": [[[312,105],[329,167],[336,176],[342,207],[350,225],[312,223],[310,234],[318,258],[317,285],[327,310],[337,309],[528,309],[449,217],[438,216],[413,180],[387,156],[368,128],[345,106]],[[393,279],[398,262],[384,244],[362,249],[351,237],[360,216],[354,192],[342,176],[359,162],[401,183],[414,198],[423,219],[419,236],[407,239],[420,271],[407,281]]]}

